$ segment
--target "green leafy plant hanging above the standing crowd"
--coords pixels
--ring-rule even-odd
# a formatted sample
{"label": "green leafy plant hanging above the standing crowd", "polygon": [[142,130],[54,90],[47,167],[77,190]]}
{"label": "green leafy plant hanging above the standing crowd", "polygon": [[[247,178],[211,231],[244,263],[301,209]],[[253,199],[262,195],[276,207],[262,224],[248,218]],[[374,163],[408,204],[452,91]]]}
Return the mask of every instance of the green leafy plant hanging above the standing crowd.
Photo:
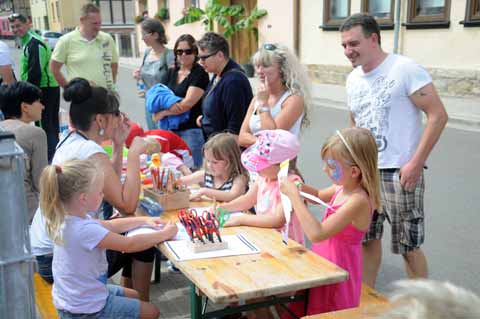
{"label": "green leafy plant hanging above the standing crowd", "polygon": [[[235,32],[246,29],[252,31],[258,39],[258,29],[255,21],[267,15],[267,10],[255,8],[249,16],[245,15],[243,5],[225,6],[219,0],[208,0],[205,9],[189,7],[184,16],[174,23],[180,26],[188,23],[201,21],[206,31],[213,31],[214,23],[217,22],[223,27],[223,35],[228,38]],[[233,21],[233,23],[231,22]]]}

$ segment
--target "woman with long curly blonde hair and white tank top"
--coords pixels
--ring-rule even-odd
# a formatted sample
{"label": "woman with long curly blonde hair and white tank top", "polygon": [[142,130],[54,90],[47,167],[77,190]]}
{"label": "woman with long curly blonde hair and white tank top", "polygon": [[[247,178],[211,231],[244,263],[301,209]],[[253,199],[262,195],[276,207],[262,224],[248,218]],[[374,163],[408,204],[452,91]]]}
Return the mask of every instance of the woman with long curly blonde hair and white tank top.
{"label": "woman with long curly blonde hair and white tank top", "polygon": [[240,145],[254,144],[255,133],[261,130],[283,129],[298,136],[309,122],[309,84],[304,68],[279,44],[264,44],[252,62],[260,85],[240,128]]}

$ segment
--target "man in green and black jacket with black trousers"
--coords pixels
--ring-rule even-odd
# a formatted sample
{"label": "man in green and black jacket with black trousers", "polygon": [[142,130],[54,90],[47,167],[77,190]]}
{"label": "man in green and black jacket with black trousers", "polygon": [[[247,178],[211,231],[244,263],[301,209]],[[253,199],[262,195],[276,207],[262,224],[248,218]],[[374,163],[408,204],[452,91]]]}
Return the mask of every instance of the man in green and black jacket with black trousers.
{"label": "man in green and black jacket with black trousers", "polygon": [[30,23],[24,15],[11,14],[8,22],[12,32],[22,42],[20,79],[42,90],[41,103],[45,109],[42,112],[40,124],[47,135],[48,160],[51,161],[58,143],[60,107],[60,88],[48,68],[52,51],[48,44],[30,28]]}

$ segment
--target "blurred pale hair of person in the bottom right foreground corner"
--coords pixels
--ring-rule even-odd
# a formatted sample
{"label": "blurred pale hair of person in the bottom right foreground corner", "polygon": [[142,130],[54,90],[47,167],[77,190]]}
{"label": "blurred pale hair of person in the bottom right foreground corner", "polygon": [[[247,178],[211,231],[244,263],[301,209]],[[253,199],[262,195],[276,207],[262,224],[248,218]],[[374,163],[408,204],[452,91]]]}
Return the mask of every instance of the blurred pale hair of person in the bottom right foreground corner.
{"label": "blurred pale hair of person in the bottom right foreground corner", "polygon": [[416,279],[394,283],[392,310],[379,319],[477,319],[480,298],[449,282]]}

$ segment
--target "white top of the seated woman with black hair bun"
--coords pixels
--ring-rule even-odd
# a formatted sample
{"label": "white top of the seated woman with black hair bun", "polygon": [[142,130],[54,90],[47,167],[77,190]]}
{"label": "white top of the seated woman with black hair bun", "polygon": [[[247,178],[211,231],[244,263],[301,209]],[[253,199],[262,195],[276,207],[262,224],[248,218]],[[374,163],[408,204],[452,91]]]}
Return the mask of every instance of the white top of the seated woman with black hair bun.
{"label": "white top of the seated woman with black hair bun", "polygon": [[[94,141],[79,133],[71,132],[58,144],[52,164],[61,165],[70,159],[87,159],[97,153],[106,154],[105,150]],[[30,226],[30,245],[32,254],[35,256],[53,253],[53,242],[45,230],[45,219],[40,207],[37,208]]]}

